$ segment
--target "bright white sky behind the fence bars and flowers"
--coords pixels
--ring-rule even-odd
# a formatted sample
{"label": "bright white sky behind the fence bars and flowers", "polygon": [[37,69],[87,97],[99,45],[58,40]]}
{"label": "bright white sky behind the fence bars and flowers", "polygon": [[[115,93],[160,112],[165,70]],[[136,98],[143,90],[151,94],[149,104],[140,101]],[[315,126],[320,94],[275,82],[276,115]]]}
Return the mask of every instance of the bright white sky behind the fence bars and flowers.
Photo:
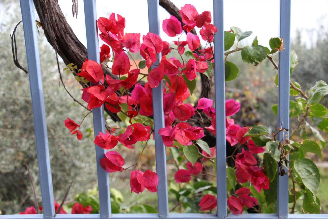
{"label": "bright white sky behind the fence bars and flowers", "polygon": [[[199,13],[211,11],[213,18],[212,0],[172,1],[179,9],[188,3],[194,5]],[[72,1],[59,0],[59,4],[74,33],[86,45],[83,1],[79,0],[77,19],[72,17]],[[268,46],[271,37],[278,37],[279,0],[225,0],[224,4],[225,30],[236,26],[243,31],[253,31],[243,43],[251,43],[257,36],[260,45]],[[296,30],[300,29],[303,30],[304,42],[315,39],[316,33],[311,34],[306,30],[318,29],[320,25],[327,28],[327,9],[328,0],[292,0],[291,37],[295,37]],[[125,33],[141,33],[141,38],[147,34],[147,0],[97,0],[97,17],[109,17],[112,12],[125,17]],[[163,19],[169,16],[169,13],[160,7],[160,26]],[[164,32],[161,37],[169,42],[176,40],[176,37],[168,37]]]}

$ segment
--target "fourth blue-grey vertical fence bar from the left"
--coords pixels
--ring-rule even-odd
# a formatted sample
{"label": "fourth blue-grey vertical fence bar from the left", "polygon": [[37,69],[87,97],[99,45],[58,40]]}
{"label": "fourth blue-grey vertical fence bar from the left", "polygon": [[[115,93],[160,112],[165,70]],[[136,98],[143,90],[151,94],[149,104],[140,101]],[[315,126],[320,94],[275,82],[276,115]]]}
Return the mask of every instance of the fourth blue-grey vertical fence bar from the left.
{"label": "fourth blue-grey vertical fence bar from the left", "polygon": [[214,0],[215,115],[216,115],[216,188],[217,217],[227,217],[225,74],[223,0]]}

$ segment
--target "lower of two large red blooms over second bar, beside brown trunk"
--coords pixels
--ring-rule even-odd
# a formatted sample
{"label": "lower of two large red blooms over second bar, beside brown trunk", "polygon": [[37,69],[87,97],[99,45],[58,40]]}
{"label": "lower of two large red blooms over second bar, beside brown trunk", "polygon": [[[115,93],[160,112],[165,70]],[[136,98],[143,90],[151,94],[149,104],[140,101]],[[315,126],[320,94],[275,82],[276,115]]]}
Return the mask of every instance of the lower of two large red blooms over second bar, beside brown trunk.
{"label": "lower of two large red blooms over second bar, beside brown trunk", "polygon": [[100,107],[106,100],[108,93],[104,85],[94,85],[82,89],[82,99],[88,103],[88,109]]}

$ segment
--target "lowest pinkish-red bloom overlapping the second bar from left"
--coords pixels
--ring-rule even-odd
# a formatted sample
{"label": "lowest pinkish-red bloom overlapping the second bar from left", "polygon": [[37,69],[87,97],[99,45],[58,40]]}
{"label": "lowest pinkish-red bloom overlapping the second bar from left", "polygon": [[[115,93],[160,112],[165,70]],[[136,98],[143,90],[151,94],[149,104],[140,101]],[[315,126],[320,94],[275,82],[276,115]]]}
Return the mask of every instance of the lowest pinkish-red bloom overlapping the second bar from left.
{"label": "lowest pinkish-red bloom overlapping the second bar from left", "polygon": [[116,151],[109,151],[105,153],[105,157],[100,159],[100,165],[104,170],[109,173],[115,171],[123,171],[122,166],[124,165],[124,159],[122,155]]}

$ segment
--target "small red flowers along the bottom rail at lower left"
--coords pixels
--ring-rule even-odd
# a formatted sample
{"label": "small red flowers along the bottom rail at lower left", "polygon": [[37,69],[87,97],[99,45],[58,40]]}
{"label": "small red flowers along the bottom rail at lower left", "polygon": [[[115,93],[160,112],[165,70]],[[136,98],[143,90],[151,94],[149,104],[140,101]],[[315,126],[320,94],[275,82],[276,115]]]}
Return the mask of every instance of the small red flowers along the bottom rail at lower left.
{"label": "small red flowers along the bottom rail at lower left", "polygon": [[[55,205],[55,212],[57,212],[60,207],[60,204],[54,201],[54,205]],[[39,210],[42,211],[43,207],[40,206]],[[90,205],[83,207],[82,204],[76,202],[72,207],[72,214],[90,214],[91,212],[92,212],[92,207]],[[19,214],[37,214],[37,212],[35,208],[31,206],[31,207],[27,207],[25,211],[21,211]],[[67,214],[67,212],[63,208],[61,208],[59,214]]]}

